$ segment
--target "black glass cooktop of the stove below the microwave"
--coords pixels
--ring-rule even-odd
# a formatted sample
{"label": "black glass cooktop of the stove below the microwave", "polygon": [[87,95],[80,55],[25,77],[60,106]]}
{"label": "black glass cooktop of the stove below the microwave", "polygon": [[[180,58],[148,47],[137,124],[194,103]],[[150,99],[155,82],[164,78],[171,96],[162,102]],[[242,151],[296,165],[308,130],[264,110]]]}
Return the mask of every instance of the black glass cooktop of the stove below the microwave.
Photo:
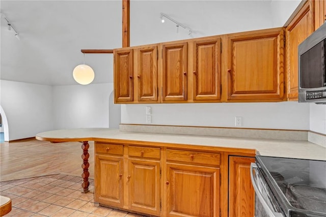
{"label": "black glass cooktop of the stove below the microwave", "polygon": [[326,216],[326,161],[270,156],[256,160],[288,216]]}

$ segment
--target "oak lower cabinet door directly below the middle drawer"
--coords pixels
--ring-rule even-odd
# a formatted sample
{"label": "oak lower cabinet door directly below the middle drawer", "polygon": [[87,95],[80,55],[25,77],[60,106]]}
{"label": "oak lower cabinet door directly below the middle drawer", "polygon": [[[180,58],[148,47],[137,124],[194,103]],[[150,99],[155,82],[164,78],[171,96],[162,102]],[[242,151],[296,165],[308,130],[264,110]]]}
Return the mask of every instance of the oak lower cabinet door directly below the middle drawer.
{"label": "oak lower cabinet door directly below the middle drawer", "polygon": [[129,206],[148,214],[160,213],[159,162],[129,159]]}

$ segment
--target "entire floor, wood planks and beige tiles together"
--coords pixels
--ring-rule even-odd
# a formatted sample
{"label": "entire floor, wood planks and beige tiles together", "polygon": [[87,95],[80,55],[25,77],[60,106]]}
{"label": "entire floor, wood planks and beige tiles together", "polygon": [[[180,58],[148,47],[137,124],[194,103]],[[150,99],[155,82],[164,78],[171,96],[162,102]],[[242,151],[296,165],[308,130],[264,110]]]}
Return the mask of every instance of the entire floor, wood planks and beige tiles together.
{"label": "entire floor, wood planks and beige tiles together", "polygon": [[0,144],[0,195],[12,199],[6,216],[141,217],[94,202],[94,143],[90,142],[90,192],[82,193],[82,143],[35,139]]}

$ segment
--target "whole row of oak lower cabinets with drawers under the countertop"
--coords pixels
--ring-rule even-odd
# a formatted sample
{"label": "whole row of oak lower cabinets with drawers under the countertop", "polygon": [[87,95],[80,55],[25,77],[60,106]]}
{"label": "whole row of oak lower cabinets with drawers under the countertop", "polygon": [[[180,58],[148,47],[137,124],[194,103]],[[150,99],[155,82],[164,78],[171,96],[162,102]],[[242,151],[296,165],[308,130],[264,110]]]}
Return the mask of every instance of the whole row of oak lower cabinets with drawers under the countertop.
{"label": "whole row of oak lower cabinets with drawers under the countertop", "polygon": [[95,142],[94,201],[151,216],[254,216],[254,158],[229,155],[216,147]]}

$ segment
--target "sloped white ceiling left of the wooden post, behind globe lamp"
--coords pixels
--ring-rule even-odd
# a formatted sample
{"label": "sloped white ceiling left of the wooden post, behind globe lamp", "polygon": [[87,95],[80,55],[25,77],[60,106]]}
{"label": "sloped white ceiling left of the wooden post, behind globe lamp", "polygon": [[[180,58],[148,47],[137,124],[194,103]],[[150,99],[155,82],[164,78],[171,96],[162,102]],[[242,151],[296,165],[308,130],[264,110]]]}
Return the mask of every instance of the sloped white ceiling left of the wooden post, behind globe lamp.
{"label": "sloped white ceiling left of the wooden post, behind globe lamp", "polygon": [[[1,79],[75,85],[80,49],[121,47],[121,1],[1,1]],[[11,22],[20,36],[8,31]],[[86,54],[94,84],[112,83],[112,54]]]}

